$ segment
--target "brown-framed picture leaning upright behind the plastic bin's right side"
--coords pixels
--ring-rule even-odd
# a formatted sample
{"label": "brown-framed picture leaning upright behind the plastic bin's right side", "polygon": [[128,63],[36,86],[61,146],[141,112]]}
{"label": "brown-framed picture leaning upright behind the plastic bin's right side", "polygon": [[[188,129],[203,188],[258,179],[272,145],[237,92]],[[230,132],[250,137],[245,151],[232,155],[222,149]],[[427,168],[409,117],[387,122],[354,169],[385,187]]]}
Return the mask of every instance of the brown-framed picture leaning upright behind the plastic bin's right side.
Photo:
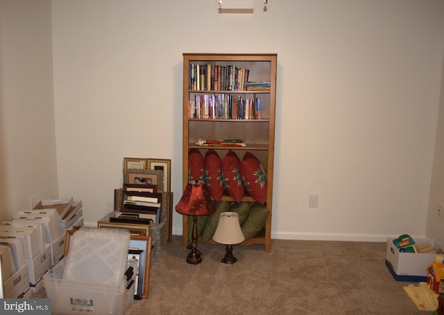
{"label": "brown-framed picture leaning upright behind the plastic bin's right side", "polygon": [[151,236],[131,235],[128,258],[138,260],[134,298],[141,300],[148,298],[148,289],[151,270]]}

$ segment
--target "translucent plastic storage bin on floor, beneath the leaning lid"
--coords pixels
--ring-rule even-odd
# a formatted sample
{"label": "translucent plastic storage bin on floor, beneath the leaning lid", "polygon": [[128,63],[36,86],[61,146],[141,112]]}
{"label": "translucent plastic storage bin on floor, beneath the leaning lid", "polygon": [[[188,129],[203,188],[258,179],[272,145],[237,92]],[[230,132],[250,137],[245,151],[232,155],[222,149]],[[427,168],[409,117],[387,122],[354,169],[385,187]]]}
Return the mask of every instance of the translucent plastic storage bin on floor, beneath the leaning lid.
{"label": "translucent plastic storage bin on floor, beneath the leaning lid", "polygon": [[43,277],[51,311],[56,314],[125,314],[133,304],[135,285],[127,289],[123,278],[119,285],[94,284],[62,279],[66,258]]}

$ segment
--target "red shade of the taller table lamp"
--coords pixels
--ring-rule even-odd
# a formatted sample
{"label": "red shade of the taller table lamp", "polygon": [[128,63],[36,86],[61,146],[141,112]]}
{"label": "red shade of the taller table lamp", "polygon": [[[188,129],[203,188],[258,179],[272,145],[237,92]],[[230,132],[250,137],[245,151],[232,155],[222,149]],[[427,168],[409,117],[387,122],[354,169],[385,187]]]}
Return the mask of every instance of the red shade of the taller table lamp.
{"label": "red shade of the taller table lamp", "polygon": [[185,192],[176,206],[182,215],[211,215],[216,212],[210,191],[203,181],[189,181]]}

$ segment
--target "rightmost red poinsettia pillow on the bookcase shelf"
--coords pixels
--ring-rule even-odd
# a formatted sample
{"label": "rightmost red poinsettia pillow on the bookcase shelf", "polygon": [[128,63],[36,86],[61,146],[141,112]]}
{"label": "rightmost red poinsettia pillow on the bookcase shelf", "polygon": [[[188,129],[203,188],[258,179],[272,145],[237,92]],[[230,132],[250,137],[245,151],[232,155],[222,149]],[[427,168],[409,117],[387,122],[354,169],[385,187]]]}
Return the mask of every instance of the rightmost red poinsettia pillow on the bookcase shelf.
{"label": "rightmost red poinsettia pillow on the bookcase shelf", "polygon": [[259,204],[265,204],[266,201],[266,173],[261,162],[251,154],[245,152],[244,159],[239,166],[242,179],[244,179],[245,189],[248,195],[255,199]]}

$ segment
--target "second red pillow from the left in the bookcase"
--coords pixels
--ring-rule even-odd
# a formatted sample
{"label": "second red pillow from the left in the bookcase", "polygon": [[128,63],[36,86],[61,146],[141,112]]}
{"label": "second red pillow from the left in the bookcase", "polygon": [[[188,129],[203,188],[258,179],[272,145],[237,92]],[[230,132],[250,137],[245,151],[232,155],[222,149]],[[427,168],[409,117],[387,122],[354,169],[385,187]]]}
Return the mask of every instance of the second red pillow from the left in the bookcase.
{"label": "second red pillow from the left in the bookcase", "polygon": [[222,160],[216,150],[210,149],[203,160],[203,180],[207,183],[211,197],[217,202],[223,195]]}

